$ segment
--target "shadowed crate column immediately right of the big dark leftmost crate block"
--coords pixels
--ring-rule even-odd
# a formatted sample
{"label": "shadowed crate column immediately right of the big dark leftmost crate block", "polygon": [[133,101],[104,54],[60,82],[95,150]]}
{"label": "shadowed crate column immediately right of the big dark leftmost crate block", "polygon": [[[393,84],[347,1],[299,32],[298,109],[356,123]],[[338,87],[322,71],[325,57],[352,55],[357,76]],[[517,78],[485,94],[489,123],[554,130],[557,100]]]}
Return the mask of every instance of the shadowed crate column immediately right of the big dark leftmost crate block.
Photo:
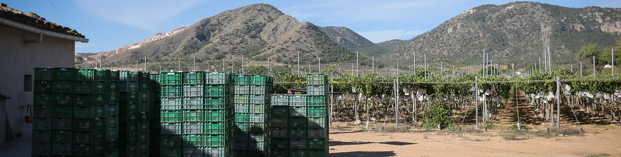
{"label": "shadowed crate column immediately right of the big dark leftmost crate block", "polygon": [[140,71],[119,71],[119,156],[140,155],[142,114],[138,103],[141,97],[139,73]]}

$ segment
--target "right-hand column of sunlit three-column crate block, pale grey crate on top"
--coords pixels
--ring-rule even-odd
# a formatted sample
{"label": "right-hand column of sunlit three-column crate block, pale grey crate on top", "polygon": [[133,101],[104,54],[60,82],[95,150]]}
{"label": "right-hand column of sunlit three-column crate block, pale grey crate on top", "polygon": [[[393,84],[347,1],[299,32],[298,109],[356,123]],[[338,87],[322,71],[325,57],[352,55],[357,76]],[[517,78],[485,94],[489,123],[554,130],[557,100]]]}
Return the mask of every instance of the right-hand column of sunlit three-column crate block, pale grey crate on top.
{"label": "right-hand column of sunlit three-column crate block, pale grey crate on top", "polygon": [[[233,73],[225,71],[204,72],[204,156],[233,154],[233,76]],[[184,152],[184,156],[188,155]]]}

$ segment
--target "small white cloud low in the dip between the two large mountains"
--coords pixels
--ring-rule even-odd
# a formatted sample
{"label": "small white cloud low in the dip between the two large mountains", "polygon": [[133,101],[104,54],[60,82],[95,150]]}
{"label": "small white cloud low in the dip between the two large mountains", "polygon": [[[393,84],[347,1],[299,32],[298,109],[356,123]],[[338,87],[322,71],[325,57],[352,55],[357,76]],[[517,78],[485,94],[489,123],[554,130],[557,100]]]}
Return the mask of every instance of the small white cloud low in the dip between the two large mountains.
{"label": "small white cloud low in the dip between the two large mountains", "polygon": [[425,31],[423,30],[402,30],[402,29],[391,29],[391,30],[376,30],[376,31],[367,31],[367,32],[358,32],[358,34],[363,37],[371,40],[373,43],[384,42],[392,39],[401,39],[401,40],[409,40],[416,35],[422,34]]}

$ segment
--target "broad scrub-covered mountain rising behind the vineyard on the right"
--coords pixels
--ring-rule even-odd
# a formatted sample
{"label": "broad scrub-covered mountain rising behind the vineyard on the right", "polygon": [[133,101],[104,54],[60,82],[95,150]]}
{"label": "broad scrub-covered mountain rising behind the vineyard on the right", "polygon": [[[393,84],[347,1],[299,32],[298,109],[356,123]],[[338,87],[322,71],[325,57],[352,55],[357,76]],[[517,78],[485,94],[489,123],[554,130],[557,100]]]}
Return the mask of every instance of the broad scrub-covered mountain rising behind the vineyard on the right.
{"label": "broad scrub-covered mountain rising behind the vineyard on the right", "polygon": [[522,68],[543,54],[542,28],[550,28],[553,64],[578,63],[580,47],[597,43],[608,47],[621,38],[621,9],[570,8],[539,2],[487,4],[446,20],[433,30],[398,45],[384,59],[446,59],[465,65],[483,62],[483,50],[493,63],[516,63]]}

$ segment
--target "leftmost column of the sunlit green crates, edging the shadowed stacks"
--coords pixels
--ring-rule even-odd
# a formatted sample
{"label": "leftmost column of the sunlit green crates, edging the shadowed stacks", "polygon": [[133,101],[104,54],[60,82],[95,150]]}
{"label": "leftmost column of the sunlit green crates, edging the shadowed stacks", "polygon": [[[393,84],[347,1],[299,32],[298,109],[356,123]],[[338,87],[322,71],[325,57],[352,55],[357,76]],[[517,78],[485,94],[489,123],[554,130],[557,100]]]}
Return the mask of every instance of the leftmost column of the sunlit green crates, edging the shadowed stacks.
{"label": "leftmost column of the sunlit green crates, edging the shadowed stacks", "polygon": [[178,72],[160,74],[160,156],[179,157],[183,155],[181,138],[182,76]]}

